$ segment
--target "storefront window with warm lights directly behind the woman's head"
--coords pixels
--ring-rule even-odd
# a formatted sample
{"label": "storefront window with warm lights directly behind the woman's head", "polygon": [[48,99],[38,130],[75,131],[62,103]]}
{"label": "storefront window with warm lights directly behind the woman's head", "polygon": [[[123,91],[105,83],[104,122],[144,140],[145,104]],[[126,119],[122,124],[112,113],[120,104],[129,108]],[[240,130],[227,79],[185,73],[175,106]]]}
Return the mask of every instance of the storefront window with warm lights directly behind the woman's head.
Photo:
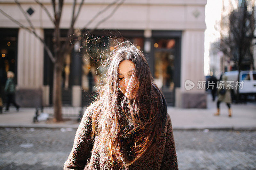
{"label": "storefront window with warm lights directly behind the woman's head", "polygon": [[82,63],[82,89],[85,91],[96,91],[98,83],[105,83],[105,74],[108,68],[100,65],[100,61],[106,59],[110,52],[114,49],[116,41],[131,41],[140,50],[143,50],[143,38],[116,38],[110,39],[108,37],[94,38],[89,40],[83,56]]}

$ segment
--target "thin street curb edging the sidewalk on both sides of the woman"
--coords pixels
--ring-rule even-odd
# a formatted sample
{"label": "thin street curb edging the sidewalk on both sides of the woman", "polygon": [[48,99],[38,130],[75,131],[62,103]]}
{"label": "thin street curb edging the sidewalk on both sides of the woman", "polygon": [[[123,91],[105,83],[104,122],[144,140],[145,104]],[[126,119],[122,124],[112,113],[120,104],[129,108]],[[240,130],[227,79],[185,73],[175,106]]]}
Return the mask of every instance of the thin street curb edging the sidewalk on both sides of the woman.
{"label": "thin street curb edging the sidewalk on both sides of the woman", "polygon": [[[60,125],[60,124],[0,124],[0,128],[47,128],[47,129],[60,129],[60,128],[72,128],[77,129],[79,124],[73,125]],[[173,127],[173,130],[234,130],[234,131],[256,131],[254,127],[238,127],[238,126],[225,126],[225,127],[202,127],[202,126],[177,126]],[[207,131],[208,132],[208,131]]]}

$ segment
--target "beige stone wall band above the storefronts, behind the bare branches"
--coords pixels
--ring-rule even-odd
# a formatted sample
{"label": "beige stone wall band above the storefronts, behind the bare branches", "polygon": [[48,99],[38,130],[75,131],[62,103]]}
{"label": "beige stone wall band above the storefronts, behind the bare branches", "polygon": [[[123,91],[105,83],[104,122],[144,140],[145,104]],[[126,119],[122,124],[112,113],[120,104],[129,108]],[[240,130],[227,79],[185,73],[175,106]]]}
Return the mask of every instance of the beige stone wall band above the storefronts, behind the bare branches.
{"label": "beige stone wall band above the storefronts, behind the bare branches", "polygon": [[[6,2],[6,3],[4,3]],[[41,0],[45,7],[53,16],[51,1]],[[63,7],[62,20],[60,26],[68,28],[71,20],[72,0],[65,1]],[[83,28],[86,23],[100,10],[106,7],[113,0],[87,0],[81,9],[75,27]],[[45,11],[33,1],[20,0],[24,10],[29,7],[35,11],[29,18],[36,27],[52,28],[53,24],[49,20]],[[79,3],[79,1],[78,1]],[[78,4],[77,3],[77,4]],[[99,29],[155,29],[155,30],[187,30],[205,29],[204,6],[206,0],[126,0],[115,14],[98,27]],[[95,25],[104,17],[108,16],[113,8],[103,12],[89,25]],[[26,18],[20,12],[18,6],[10,1],[1,1],[1,9],[21,23],[28,26]],[[12,21],[0,14],[0,27],[17,27]]]}

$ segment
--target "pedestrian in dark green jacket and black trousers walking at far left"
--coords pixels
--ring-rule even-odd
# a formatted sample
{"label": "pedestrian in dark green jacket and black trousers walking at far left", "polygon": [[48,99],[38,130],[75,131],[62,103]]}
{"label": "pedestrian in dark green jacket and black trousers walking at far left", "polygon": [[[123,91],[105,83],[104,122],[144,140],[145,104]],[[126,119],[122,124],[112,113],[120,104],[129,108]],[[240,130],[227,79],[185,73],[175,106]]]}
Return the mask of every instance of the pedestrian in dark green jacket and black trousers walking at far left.
{"label": "pedestrian in dark green jacket and black trousers walking at far left", "polygon": [[4,87],[4,91],[7,92],[7,103],[6,103],[5,111],[9,111],[9,106],[11,103],[16,107],[17,111],[19,111],[19,108],[20,108],[20,106],[16,104],[14,99],[15,84],[14,84],[13,78],[14,78],[14,73],[12,71],[8,71],[7,81]]}

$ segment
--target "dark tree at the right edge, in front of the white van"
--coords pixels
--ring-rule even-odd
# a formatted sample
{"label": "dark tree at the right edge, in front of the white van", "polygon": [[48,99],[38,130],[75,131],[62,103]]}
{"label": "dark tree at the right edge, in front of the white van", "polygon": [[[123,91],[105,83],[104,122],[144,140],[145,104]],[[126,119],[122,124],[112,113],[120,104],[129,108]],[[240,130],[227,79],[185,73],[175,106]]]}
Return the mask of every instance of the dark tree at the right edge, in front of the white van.
{"label": "dark tree at the right edge, in front of the white van", "polygon": [[[226,28],[228,32],[220,32],[219,49],[224,56],[228,56],[235,63],[238,82],[240,71],[245,69],[245,65],[250,65],[249,69],[255,69],[253,64],[253,33],[256,24],[254,3],[255,0],[237,1],[237,8],[233,8],[228,16],[221,18],[221,28],[223,30]],[[237,89],[237,101],[238,98],[239,89]]]}

